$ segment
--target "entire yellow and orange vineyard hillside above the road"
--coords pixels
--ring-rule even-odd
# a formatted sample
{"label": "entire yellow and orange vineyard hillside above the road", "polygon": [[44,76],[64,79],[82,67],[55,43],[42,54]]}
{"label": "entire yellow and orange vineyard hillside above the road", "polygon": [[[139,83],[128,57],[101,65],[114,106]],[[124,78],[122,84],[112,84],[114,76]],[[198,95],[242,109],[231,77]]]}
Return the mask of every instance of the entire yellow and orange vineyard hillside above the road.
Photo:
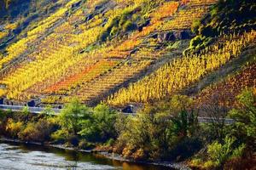
{"label": "entire yellow and orange vineyard hillside above the road", "polygon": [[[87,105],[120,107],[188,90],[255,43],[255,4],[242,1],[232,11],[224,2],[22,1],[20,11],[19,2],[8,3],[1,10],[9,20],[1,21],[0,95],[13,105],[62,105],[79,97]],[[248,6],[244,20],[234,16]],[[226,26],[219,14],[230,19]],[[26,20],[32,22],[24,26]]]}

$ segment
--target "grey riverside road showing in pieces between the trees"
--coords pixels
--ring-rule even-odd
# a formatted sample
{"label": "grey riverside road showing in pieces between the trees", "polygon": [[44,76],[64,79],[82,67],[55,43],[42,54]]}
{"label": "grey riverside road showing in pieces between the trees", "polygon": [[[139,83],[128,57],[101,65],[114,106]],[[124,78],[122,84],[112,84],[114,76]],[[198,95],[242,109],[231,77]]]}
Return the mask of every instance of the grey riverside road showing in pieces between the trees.
{"label": "grey riverside road showing in pieces between the trees", "polygon": [[[24,106],[20,106],[20,105],[0,105],[0,110],[3,110],[3,111],[8,111],[8,110],[22,111],[23,108],[24,108]],[[35,114],[42,113],[44,110],[45,110],[44,107],[28,107],[28,111],[31,112],[31,113],[35,113]],[[61,112],[61,109],[52,109],[52,111],[55,112],[54,115],[58,115]],[[133,116],[136,115],[136,114],[130,114],[130,113],[123,113],[123,114],[125,114],[127,116],[128,115],[133,115]],[[212,118],[212,117],[198,116],[197,119],[198,119],[198,122],[200,122],[200,123],[214,122],[214,118]],[[224,119],[225,124],[232,124],[234,122],[235,121],[233,119],[230,119],[230,118],[225,118]]]}

